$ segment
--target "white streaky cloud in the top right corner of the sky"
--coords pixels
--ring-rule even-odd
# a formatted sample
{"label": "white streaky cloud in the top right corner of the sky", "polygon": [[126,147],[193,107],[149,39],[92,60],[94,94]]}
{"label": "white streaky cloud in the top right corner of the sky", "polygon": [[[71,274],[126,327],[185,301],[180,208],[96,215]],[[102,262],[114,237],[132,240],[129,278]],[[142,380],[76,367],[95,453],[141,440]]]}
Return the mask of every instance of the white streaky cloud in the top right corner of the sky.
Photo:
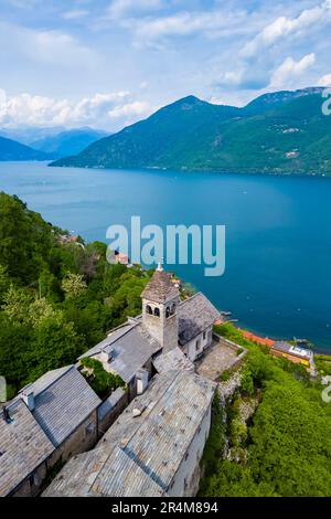
{"label": "white streaky cloud in the top right corner of the sky", "polygon": [[279,17],[266,25],[252,41],[246,43],[242,54],[252,57],[265,46],[271,46],[281,39],[311,32],[314,27],[331,22],[331,0],[325,0],[311,9],[305,9],[297,18]]}

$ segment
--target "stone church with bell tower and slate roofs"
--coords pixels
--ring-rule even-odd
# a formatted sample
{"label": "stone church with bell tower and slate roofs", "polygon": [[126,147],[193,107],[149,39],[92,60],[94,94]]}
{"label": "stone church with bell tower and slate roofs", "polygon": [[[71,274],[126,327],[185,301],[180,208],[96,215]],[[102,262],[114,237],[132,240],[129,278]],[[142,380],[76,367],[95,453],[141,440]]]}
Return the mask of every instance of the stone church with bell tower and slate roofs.
{"label": "stone church with bell tower and slate roofs", "polygon": [[[220,311],[202,294],[180,300],[171,274],[161,266],[141,294],[142,315],[111,330],[84,353],[99,360],[108,372],[128,385],[129,400],[145,391],[158,367],[177,369],[199,359],[213,341],[213,324]],[[162,359],[167,359],[164,362]]]}

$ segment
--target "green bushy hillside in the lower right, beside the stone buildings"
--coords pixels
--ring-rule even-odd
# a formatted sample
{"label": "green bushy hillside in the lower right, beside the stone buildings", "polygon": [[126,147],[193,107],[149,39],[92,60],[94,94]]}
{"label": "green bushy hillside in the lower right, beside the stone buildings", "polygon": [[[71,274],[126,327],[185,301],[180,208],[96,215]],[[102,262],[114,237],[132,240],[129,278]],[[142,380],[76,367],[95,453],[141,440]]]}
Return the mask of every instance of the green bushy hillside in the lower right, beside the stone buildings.
{"label": "green bushy hillside in the lower right, beside the stone buildings", "polygon": [[[232,325],[217,332],[245,346],[248,356],[226,410],[216,402],[200,494],[330,496],[331,404],[321,398],[324,386],[244,339]],[[245,422],[247,406],[252,412]]]}

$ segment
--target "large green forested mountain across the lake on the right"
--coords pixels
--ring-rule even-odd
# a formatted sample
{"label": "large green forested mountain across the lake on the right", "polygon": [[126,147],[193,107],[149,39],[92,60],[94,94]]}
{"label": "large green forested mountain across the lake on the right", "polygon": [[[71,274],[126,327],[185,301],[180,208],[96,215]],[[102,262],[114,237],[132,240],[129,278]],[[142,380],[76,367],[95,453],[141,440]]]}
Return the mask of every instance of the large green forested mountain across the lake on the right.
{"label": "large green forested mountain across the lake on the right", "polygon": [[331,176],[322,92],[266,94],[243,108],[189,96],[51,166]]}

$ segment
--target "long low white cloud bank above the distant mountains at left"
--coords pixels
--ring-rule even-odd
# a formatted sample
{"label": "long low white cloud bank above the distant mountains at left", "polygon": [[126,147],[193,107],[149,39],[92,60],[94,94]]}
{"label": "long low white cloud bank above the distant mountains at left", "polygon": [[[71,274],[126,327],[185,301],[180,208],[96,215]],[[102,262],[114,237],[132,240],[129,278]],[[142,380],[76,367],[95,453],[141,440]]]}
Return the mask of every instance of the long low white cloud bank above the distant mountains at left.
{"label": "long low white cloud bank above the distant mountains at left", "polygon": [[66,126],[92,125],[108,128],[111,119],[122,125],[149,114],[146,102],[135,100],[129,92],[96,94],[78,102],[30,94],[8,96],[0,89],[0,125]]}

